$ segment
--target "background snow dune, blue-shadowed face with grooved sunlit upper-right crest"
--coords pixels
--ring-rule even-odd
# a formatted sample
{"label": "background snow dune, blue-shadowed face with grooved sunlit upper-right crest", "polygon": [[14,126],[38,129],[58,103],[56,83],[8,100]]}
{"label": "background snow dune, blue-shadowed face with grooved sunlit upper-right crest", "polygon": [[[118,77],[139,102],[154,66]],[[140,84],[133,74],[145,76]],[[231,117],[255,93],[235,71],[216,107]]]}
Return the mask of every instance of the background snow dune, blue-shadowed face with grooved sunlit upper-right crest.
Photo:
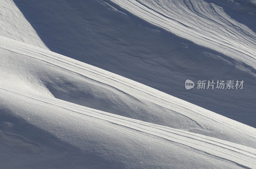
{"label": "background snow dune, blue-shadowed face with grooved sunlit upper-right crest", "polygon": [[[252,95],[256,90],[253,59],[256,18],[235,9],[245,8],[244,3],[14,2],[53,52],[256,127],[256,99]],[[194,82],[244,80],[245,87],[243,90],[186,90],[187,79]],[[55,97],[65,100],[60,95]]]}

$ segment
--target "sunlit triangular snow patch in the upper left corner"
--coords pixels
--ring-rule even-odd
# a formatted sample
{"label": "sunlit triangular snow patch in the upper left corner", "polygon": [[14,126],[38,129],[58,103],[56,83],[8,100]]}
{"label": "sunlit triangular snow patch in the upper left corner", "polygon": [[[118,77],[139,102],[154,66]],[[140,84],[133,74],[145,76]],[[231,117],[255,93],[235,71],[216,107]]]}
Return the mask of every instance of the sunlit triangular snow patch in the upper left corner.
{"label": "sunlit triangular snow patch in the upper left corner", "polygon": [[12,0],[0,1],[0,36],[48,49]]}

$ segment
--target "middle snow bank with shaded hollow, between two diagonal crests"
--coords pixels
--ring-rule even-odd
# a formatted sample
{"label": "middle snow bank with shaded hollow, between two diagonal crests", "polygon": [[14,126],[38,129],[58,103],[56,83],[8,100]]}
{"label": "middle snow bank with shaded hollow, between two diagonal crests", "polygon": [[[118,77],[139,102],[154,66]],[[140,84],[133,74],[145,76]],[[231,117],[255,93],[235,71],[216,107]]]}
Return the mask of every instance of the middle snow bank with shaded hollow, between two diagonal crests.
{"label": "middle snow bank with shaded hollow, between two diagonal crests", "polygon": [[100,68],[0,38],[4,42],[0,44],[4,60],[1,72],[22,77],[17,83],[3,76],[2,86],[43,97],[57,95],[93,109],[256,148],[255,128]]}

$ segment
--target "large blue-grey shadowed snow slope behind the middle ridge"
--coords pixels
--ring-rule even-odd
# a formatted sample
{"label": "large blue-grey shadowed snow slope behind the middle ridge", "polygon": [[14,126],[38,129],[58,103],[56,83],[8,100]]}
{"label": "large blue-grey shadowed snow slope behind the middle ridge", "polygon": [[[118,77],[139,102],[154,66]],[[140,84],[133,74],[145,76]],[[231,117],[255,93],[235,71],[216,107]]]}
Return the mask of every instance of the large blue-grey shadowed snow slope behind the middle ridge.
{"label": "large blue-grey shadowed snow slope behind the middle ridge", "polygon": [[[223,50],[221,49],[217,52],[196,45],[187,40],[189,39],[187,35],[183,39],[170,32],[164,32],[163,29],[159,28],[159,26],[163,26],[152,26],[140,20],[141,18],[147,20],[147,18],[134,18],[131,13],[127,13],[127,11],[120,10],[119,8],[118,11],[104,1],[99,1],[99,3],[94,1],[74,1],[72,3],[69,1],[59,1],[54,2],[54,5],[52,5],[51,1],[22,1],[21,3],[21,1],[15,0],[14,2],[46,46],[53,52],[122,75],[228,118],[256,127],[254,120],[256,118],[256,99],[252,95],[256,90],[254,59],[246,57],[252,62],[249,63],[250,61],[246,59],[245,63],[251,66],[239,61],[244,58],[245,55],[243,53],[253,55],[254,51],[253,42],[255,39],[253,40],[253,37],[255,37],[255,33],[253,30],[255,30],[255,26],[253,23],[256,23],[256,20],[255,18],[249,18],[249,14],[244,14],[248,22],[246,22],[247,25],[243,25],[238,23],[238,21],[242,20],[241,18],[239,20],[238,16],[241,13],[231,15],[229,12],[230,16],[237,18],[227,18],[227,14],[223,12],[227,8],[227,4],[224,3],[223,5],[223,3],[220,3],[223,5],[222,10],[221,7],[209,3],[212,5],[209,10],[219,10],[223,16],[226,16],[226,18],[221,18],[217,15],[218,12],[215,12],[216,15],[212,17],[216,22],[211,22],[213,24],[212,27],[219,27],[221,29],[213,30],[213,33],[217,31],[222,35],[230,35],[228,36],[229,41],[232,42],[232,48],[238,50],[236,53],[232,52],[232,49],[223,52],[223,50],[227,49],[225,46],[221,47]],[[175,2],[178,3],[179,1]],[[199,2],[209,6],[205,1],[187,3],[193,5]],[[115,3],[118,4],[118,1],[115,1]],[[161,3],[159,6],[156,6],[156,10],[167,12],[170,15],[168,8],[167,11],[164,11]],[[185,4],[180,5],[182,8],[186,7]],[[42,6],[44,8],[41,8]],[[129,7],[132,6],[125,6],[125,8],[128,8],[128,11]],[[176,7],[172,8],[172,10],[176,10],[177,13],[181,12]],[[187,12],[189,12],[190,7],[188,6],[187,8]],[[132,12],[132,14],[136,15],[136,12]],[[231,12],[233,11],[231,10]],[[196,16],[193,13],[193,16],[198,21],[200,20],[200,15]],[[190,22],[193,24],[197,20],[190,20]],[[151,22],[150,20],[148,21]],[[208,22],[207,18],[202,21]],[[218,25],[219,21],[220,25]],[[230,26],[229,21],[235,26]],[[251,25],[248,25],[249,21]],[[187,24],[189,21],[184,21],[183,19],[182,23],[185,22]],[[214,24],[217,24],[217,26],[214,26]],[[223,26],[228,26],[233,31],[233,34],[227,33],[227,30],[222,29]],[[205,27],[200,29],[203,28]],[[183,28],[180,29],[183,30]],[[205,28],[205,30],[207,31],[208,29]],[[204,32],[206,32],[205,30]],[[209,31],[206,33],[209,33]],[[233,37],[233,35],[236,35],[236,37]],[[180,36],[182,35],[180,34]],[[237,45],[237,39],[241,36],[243,40],[241,40],[240,45]],[[221,36],[216,37],[221,38]],[[196,42],[194,39],[192,41]],[[223,41],[223,43],[226,43],[226,41]],[[203,46],[205,45],[203,44]],[[244,52],[243,46],[248,46],[249,53]],[[214,49],[214,46],[207,47]],[[243,79],[241,79],[242,77]],[[244,80],[246,86],[243,90],[236,91],[187,91],[184,88],[186,79],[193,81]],[[60,95],[55,96],[65,100]],[[74,101],[74,103],[84,104],[83,101],[79,100]]]}

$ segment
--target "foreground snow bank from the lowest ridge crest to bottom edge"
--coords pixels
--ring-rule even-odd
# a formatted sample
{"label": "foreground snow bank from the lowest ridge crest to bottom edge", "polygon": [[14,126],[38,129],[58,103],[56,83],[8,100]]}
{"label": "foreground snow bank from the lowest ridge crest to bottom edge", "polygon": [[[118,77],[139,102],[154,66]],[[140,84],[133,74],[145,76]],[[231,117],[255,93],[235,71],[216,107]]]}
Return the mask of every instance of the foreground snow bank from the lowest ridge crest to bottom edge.
{"label": "foreground snow bank from the lowest ridge crest to bottom edge", "polygon": [[[213,137],[125,118],[12,88],[1,89],[1,101],[4,102],[1,105],[1,121],[6,119],[5,116],[9,116],[11,119],[8,122],[9,126],[18,128],[19,123],[25,121],[23,128],[29,126],[31,128],[28,130],[30,131],[28,138],[22,136],[23,131],[18,135],[27,142],[25,147],[22,145],[18,147],[25,151],[20,154],[21,158],[13,158],[12,155],[17,150],[9,151],[9,147],[13,147],[15,142],[0,143],[5,150],[1,153],[10,157],[8,161],[11,163],[3,161],[4,166],[7,167],[17,166],[17,164],[19,167],[44,165],[44,162],[38,163],[38,159],[43,156],[45,160],[47,154],[54,152],[54,149],[44,148],[50,146],[47,142],[52,142],[52,139],[57,145],[62,142],[69,144],[66,145],[67,147],[61,147],[57,152],[65,153],[69,147],[73,146],[82,151],[81,157],[76,158],[84,159],[89,156],[86,157],[86,163],[82,163],[80,167],[254,168],[256,166],[256,149]],[[13,119],[18,120],[15,122]],[[35,127],[43,130],[42,133],[48,133],[41,144],[34,141],[41,135],[41,132],[33,131]],[[8,136],[2,135],[4,138]],[[30,156],[33,154],[34,160],[28,159],[20,163],[26,159],[27,154]],[[71,157],[69,160],[72,159]],[[45,161],[49,159],[46,158]],[[45,166],[52,167],[54,164],[47,163]],[[79,164],[74,166],[79,167]]]}

